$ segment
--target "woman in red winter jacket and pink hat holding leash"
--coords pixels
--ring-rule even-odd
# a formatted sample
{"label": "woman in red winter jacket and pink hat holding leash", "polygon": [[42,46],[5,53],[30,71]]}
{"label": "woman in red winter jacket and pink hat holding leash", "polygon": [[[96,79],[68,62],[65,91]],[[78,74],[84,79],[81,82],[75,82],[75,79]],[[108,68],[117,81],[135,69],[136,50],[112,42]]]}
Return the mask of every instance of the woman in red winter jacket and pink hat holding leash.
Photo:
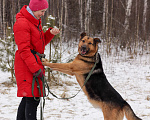
{"label": "woman in red winter jacket and pink hat holding leash", "polygon": [[[47,0],[30,0],[29,6],[23,6],[16,15],[13,28],[18,46],[15,54],[15,75],[18,87],[17,96],[23,97],[18,107],[17,120],[36,120],[39,101],[34,100],[32,95],[32,79],[41,69],[38,80],[42,90],[40,76],[45,72],[39,56],[33,54],[31,50],[43,54],[45,45],[59,33],[57,28],[49,28],[45,33],[42,30],[41,16],[47,8]],[[37,98],[43,96],[38,91],[37,83],[34,86],[34,96]]]}

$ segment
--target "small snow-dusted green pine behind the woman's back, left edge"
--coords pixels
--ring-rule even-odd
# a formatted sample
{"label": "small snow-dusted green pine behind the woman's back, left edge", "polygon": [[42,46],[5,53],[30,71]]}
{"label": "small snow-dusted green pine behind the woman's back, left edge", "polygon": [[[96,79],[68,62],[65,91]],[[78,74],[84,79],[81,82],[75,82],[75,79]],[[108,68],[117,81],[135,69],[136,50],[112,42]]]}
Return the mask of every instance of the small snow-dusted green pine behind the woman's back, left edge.
{"label": "small snow-dusted green pine behind the woman's back, left edge", "polygon": [[4,72],[11,73],[11,81],[14,82],[14,58],[16,44],[14,34],[11,28],[7,28],[7,37],[5,40],[0,39],[0,69]]}

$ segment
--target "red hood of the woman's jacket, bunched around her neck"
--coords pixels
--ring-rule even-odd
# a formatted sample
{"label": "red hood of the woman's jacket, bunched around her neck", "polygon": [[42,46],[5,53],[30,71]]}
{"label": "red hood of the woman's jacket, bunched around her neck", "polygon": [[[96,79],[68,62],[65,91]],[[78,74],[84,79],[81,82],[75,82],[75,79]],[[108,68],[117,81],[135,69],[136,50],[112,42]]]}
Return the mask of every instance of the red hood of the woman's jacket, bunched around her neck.
{"label": "red hood of the woman's jacket, bunched around her neck", "polygon": [[[19,20],[20,18],[26,18],[27,20],[29,20],[32,24],[38,26],[39,24],[41,24],[41,19],[37,20],[35,19],[27,10],[27,5],[24,5],[20,12],[17,13],[16,15],[16,20]],[[39,23],[40,22],[40,23]]]}

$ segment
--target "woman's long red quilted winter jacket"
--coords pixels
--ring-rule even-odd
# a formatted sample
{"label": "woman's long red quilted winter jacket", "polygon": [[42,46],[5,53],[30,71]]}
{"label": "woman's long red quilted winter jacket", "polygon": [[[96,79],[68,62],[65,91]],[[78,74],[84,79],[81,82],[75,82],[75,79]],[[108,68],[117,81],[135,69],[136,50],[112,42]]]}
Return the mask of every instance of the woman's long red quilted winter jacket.
{"label": "woman's long red quilted winter jacket", "polygon": [[[17,96],[18,97],[33,97],[32,96],[32,79],[33,73],[42,69],[40,58],[31,53],[31,49],[44,53],[45,45],[47,45],[54,37],[50,33],[50,28],[44,33],[41,26],[41,20],[35,19],[27,10],[26,5],[16,15],[14,24],[14,37],[18,46],[15,54],[15,76],[17,81]],[[52,29],[52,28],[51,28]],[[42,90],[42,82],[39,79],[40,89]],[[35,97],[40,97],[37,89],[37,84],[34,86]],[[43,96],[43,95],[42,95]]]}

